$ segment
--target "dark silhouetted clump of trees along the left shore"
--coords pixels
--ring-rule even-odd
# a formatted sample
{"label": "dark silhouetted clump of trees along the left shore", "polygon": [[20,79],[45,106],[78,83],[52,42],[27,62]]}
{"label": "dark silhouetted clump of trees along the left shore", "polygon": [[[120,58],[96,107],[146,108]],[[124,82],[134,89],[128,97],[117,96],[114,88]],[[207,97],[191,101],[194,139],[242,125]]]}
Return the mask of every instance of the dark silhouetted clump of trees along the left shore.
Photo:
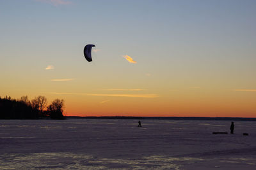
{"label": "dark silhouetted clump of trees along the left shore", "polygon": [[0,97],[0,119],[33,119],[33,118],[52,118],[64,119],[64,101],[55,99],[47,105],[45,96],[38,96],[29,101],[28,96],[20,99],[12,97]]}

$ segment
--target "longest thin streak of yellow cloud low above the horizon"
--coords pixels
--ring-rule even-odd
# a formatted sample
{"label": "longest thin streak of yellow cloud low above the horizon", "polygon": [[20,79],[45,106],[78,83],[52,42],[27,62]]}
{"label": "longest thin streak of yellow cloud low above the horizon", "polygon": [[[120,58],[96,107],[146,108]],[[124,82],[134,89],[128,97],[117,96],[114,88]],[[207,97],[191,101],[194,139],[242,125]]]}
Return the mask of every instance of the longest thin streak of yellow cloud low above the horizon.
{"label": "longest thin streak of yellow cloud low above the horizon", "polygon": [[67,94],[67,95],[85,95],[85,96],[108,96],[108,97],[142,97],[156,98],[157,94],[86,94],[86,93],[66,93],[66,92],[49,92],[50,94]]}

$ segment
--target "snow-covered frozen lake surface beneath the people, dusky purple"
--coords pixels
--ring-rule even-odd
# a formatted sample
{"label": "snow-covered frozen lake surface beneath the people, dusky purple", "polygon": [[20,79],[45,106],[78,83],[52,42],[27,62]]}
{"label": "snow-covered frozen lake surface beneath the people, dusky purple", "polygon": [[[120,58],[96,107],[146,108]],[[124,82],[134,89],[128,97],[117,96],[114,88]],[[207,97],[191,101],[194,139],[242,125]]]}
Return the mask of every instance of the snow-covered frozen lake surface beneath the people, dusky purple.
{"label": "snow-covered frozen lake surface beneath the people, dusky purple", "polygon": [[230,122],[0,120],[0,169],[255,169],[256,122]]}

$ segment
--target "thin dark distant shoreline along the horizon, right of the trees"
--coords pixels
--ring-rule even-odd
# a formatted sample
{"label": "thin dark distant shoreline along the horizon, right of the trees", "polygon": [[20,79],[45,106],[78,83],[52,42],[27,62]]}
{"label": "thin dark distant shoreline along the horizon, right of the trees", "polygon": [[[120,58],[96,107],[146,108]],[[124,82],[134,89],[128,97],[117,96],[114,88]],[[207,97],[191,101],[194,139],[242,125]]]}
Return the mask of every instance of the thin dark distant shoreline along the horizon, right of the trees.
{"label": "thin dark distant shoreline along the horizon, right of the trees", "polygon": [[237,121],[256,121],[256,118],[241,117],[78,117],[67,116],[65,118],[88,118],[88,119],[144,119],[144,120],[237,120]]}

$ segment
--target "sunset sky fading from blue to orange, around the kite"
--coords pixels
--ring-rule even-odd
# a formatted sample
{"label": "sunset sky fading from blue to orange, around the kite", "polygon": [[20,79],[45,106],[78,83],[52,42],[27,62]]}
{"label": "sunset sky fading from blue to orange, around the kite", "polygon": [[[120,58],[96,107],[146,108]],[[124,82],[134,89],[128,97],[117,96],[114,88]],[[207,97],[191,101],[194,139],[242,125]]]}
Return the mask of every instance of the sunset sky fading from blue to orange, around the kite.
{"label": "sunset sky fading from blue to orange, around the kite", "polygon": [[255,9],[1,0],[0,96],[64,99],[68,116],[256,117]]}

